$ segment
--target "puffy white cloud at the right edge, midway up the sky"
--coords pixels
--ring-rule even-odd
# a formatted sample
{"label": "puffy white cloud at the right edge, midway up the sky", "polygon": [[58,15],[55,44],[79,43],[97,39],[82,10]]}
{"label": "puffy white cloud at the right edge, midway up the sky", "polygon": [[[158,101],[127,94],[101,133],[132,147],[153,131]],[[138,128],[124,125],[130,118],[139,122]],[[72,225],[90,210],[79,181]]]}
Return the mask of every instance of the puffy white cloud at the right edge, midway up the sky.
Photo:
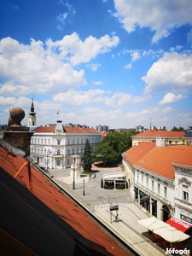
{"label": "puffy white cloud at the right edge, midway up the sky", "polygon": [[165,53],[154,62],[142,80],[147,84],[145,94],[171,90],[175,92],[192,91],[192,55]]}

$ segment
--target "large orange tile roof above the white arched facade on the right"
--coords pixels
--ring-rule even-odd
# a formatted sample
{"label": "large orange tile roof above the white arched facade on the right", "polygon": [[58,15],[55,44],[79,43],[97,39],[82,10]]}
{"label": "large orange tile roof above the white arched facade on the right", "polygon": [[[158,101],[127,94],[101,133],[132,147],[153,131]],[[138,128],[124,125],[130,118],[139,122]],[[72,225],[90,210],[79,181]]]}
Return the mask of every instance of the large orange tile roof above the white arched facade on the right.
{"label": "large orange tile roof above the white arched facade on the right", "polygon": [[172,163],[183,154],[187,147],[185,145],[155,147],[138,160],[134,166],[174,180],[175,172]]}

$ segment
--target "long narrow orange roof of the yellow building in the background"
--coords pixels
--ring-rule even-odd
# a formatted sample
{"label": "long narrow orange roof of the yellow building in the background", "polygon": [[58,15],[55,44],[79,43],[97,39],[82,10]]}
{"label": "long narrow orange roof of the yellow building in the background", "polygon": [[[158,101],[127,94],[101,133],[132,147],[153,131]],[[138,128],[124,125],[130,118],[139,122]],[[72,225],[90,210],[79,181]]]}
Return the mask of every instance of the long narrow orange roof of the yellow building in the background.
{"label": "long narrow orange roof of the yellow building in the background", "polygon": [[[184,131],[143,131],[133,137],[184,137]],[[186,138],[186,137],[185,137]]]}

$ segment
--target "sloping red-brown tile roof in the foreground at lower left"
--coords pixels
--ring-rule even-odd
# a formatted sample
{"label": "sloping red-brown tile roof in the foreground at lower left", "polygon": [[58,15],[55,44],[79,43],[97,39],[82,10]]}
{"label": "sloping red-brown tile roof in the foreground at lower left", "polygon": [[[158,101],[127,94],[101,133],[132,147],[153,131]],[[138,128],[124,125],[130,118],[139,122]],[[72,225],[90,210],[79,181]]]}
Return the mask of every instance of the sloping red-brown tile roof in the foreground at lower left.
{"label": "sloping red-brown tile roof in the foreground at lower left", "polygon": [[[20,156],[11,157],[9,154],[6,154],[5,149],[0,148],[1,167],[12,177],[15,176],[15,173],[25,162],[26,160]],[[26,166],[24,166],[15,179],[24,187],[29,188],[29,177]],[[108,234],[101,230],[98,224],[90,219],[86,212],[70,200],[67,195],[61,193],[55,184],[45,177],[43,173],[33,168],[32,194],[35,195],[38,200],[44,202],[46,206],[59,215],[67,224],[73,227],[74,230],[78,231],[79,234],[84,236],[84,238],[91,241],[93,247],[98,247],[97,249],[102,250],[102,253],[102,247],[104,247],[106,251],[112,253],[112,255],[129,255],[129,253],[119,247],[111,236],[108,236]]]}

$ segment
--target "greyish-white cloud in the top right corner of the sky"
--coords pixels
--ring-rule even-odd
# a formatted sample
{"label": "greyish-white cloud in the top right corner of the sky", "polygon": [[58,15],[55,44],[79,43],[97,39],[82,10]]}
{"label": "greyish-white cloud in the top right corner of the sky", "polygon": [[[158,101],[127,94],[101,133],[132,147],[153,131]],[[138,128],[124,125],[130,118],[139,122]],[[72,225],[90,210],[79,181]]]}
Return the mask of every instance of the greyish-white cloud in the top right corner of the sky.
{"label": "greyish-white cloud in the top right corner of the sky", "polygon": [[115,17],[127,32],[133,32],[136,26],[150,27],[154,31],[152,41],[166,38],[175,27],[192,23],[191,0],[114,0]]}

